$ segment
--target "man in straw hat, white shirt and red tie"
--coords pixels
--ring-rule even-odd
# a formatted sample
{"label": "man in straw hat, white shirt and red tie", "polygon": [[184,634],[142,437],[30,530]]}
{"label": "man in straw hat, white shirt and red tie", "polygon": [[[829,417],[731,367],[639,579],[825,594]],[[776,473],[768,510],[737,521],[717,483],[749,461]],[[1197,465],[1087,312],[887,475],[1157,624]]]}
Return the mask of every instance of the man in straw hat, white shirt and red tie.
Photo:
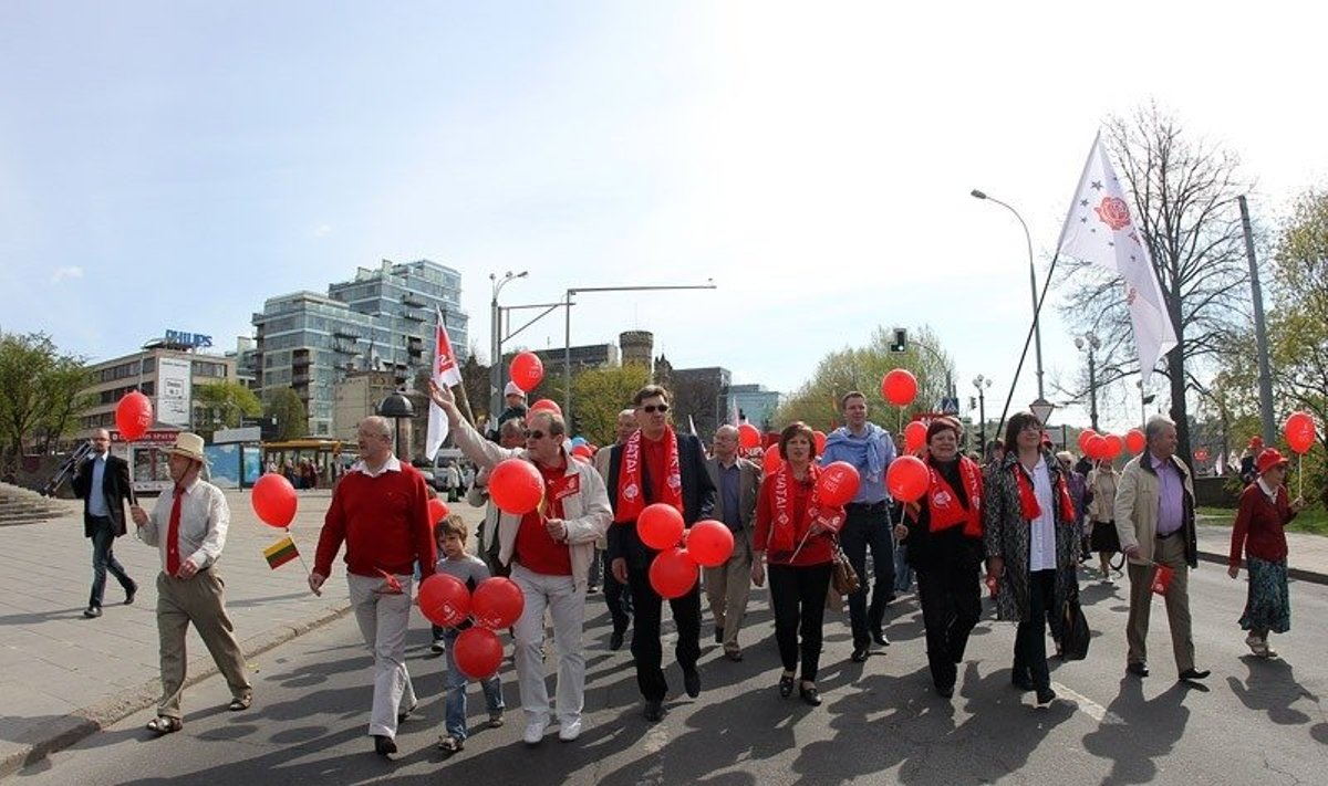
{"label": "man in straw hat, white shirt and red tie", "polygon": [[161,551],[157,575],[157,635],[161,640],[162,697],[147,730],[158,736],[183,726],[181,694],[185,690],[185,633],[190,623],[198,631],[216,668],[231,689],[227,709],[248,709],[252,688],[244,674],[244,656],[235,628],[226,613],[226,590],[216,560],[226,546],[231,510],[226,495],[199,479],[203,469],[203,438],[187,432],[175,437],[167,451],[170,491],[157,498],[151,515],[134,505],[129,509],[138,538]]}

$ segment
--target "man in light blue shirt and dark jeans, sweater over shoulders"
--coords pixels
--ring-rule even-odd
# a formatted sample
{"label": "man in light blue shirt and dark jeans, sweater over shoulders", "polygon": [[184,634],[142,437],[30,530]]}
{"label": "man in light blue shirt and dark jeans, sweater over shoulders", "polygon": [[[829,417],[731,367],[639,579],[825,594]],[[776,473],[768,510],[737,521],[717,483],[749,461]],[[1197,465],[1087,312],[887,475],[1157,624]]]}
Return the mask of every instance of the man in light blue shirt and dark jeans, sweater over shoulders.
{"label": "man in light blue shirt and dark jeans, sweater over shoulders", "polygon": [[[845,506],[847,518],[839,540],[853,570],[862,576],[862,587],[849,596],[849,624],[853,627],[854,663],[867,660],[871,643],[888,645],[884,632],[886,604],[895,596],[894,536],[890,526],[890,499],[886,494],[886,469],[895,458],[890,433],[867,421],[867,397],[850,390],[839,400],[845,425],[826,438],[821,465],[846,461],[858,469],[858,495]],[[867,580],[867,550],[875,568],[875,588]],[[871,592],[871,603],[867,593]]]}

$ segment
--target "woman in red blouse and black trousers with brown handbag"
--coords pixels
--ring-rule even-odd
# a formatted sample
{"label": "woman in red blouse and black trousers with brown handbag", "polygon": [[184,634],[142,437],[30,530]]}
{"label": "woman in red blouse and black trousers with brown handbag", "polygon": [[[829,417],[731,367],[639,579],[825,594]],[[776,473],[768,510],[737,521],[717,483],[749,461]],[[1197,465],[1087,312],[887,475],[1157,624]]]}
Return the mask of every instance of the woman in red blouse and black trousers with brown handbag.
{"label": "woman in red blouse and black trousers with brown handbag", "polygon": [[[811,706],[821,705],[817,667],[821,663],[821,628],[834,558],[834,524],[842,509],[817,502],[821,467],[815,462],[815,435],[803,422],[780,433],[784,465],[761,481],[756,505],[752,582],[765,583],[770,564],[770,605],[774,608],[774,640],[780,645],[784,673],[780,696],[793,694],[798,668],[798,635],[802,635],[802,682],[798,694]],[[762,559],[765,558],[765,559]]]}

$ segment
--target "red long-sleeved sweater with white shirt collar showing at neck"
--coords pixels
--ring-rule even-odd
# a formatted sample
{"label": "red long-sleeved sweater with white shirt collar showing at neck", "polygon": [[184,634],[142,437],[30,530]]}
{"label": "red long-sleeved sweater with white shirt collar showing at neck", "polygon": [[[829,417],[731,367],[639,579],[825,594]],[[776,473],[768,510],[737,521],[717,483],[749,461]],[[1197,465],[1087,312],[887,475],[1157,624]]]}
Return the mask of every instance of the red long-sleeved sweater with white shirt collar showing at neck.
{"label": "red long-sleeved sweater with white shirt collar showing at neck", "polygon": [[332,572],[332,558],[345,543],[345,570],[357,576],[433,575],[434,540],[429,527],[429,489],[410,465],[378,477],[347,473],[332,490],[332,505],[319,534],[313,571]]}

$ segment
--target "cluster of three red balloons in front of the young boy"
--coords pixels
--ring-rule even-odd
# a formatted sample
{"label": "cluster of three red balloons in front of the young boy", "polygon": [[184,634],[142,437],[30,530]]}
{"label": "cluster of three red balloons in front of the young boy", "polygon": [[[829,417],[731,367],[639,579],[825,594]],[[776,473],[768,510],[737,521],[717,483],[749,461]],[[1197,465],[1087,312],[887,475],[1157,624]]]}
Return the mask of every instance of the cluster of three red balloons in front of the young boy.
{"label": "cluster of three red balloons in front of the young boy", "polygon": [[494,631],[510,628],[526,608],[521,587],[511,579],[485,579],[471,593],[465,582],[448,574],[434,574],[420,583],[416,599],[424,616],[436,625],[454,628],[467,619],[474,625],[457,636],[452,656],[461,673],[471,680],[487,680],[502,664],[502,643]]}

